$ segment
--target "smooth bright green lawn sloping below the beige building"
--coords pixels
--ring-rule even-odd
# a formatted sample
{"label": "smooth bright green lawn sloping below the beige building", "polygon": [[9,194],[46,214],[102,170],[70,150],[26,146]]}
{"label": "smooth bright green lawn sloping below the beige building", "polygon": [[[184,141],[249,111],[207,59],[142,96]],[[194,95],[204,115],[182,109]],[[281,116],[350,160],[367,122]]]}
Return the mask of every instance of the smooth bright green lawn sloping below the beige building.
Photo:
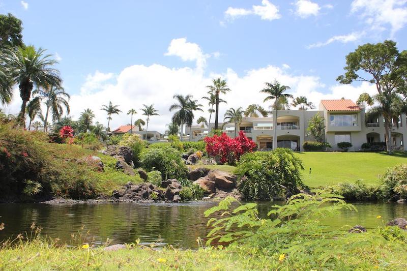
{"label": "smooth bright green lawn sloping below the beige building", "polygon": [[[340,153],[304,152],[296,153],[304,163],[304,183],[310,187],[353,183],[363,179],[366,184],[379,184],[380,175],[387,168],[407,163],[407,153]],[[309,169],[311,168],[311,174]]]}

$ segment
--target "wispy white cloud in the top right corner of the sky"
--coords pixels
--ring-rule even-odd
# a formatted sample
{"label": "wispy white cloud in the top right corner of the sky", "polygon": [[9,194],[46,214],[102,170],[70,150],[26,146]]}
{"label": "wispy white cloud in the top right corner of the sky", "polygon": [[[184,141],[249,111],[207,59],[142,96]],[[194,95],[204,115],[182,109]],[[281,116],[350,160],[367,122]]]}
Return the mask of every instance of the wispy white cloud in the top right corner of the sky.
{"label": "wispy white cloud in the top right corner of the sky", "polygon": [[407,23],[406,0],[354,0],[351,13],[358,14],[371,30],[384,31],[390,26],[393,36]]}

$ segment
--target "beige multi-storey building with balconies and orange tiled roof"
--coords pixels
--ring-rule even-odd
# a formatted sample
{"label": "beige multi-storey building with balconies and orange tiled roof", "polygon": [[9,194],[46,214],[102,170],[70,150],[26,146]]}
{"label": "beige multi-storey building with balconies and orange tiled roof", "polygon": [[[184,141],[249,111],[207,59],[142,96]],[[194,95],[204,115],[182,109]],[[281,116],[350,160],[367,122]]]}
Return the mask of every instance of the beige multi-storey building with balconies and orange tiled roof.
{"label": "beige multi-storey building with balconies and orange tiled roof", "polygon": [[[351,142],[350,151],[357,151],[365,142],[385,141],[385,128],[383,117],[378,119],[365,119],[365,108],[356,105],[351,100],[322,100],[319,110],[278,110],[277,118],[273,117],[243,117],[239,131],[243,131],[251,138],[259,149],[273,147],[273,129],[277,129],[277,146],[303,151],[304,141],[314,141],[308,136],[308,122],[315,114],[325,118],[325,137],[333,150],[339,150],[338,142]],[[404,114],[399,117],[398,124],[393,125],[392,146],[394,149],[407,150],[404,137],[407,138],[407,119]],[[183,137],[184,141],[200,141],[214,128],[192,126],[191,133]],[[235,124],[219,123],[219,128],[228,136],[235,136]],[[186,127],[189,133],[189,127]]]}

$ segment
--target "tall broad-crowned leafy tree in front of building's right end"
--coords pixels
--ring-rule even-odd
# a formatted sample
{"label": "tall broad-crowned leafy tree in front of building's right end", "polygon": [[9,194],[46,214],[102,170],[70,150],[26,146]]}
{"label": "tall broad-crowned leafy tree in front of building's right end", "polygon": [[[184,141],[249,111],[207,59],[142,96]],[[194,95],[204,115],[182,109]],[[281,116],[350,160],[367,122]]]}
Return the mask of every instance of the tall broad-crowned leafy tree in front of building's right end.
{"label": "tall broad-crowned leafy tree in front of building's right end", "polygon": [[[399,53],[396,42],[390,40],[360,45],[354,52],[346,55],[345,74],[338,76],[336,80],[342,84],[351,84],[354,81],[374,84],[379,94],[375,100],[386,103],[381,106],[383,110],[391,110],[391,99],[396,98],[393,94],[405,86],[401,72],[405,70],[407,59],[403,55],[405,51]],[[392,153],[392,114],[391,111],[383,111],[389,154]]]}

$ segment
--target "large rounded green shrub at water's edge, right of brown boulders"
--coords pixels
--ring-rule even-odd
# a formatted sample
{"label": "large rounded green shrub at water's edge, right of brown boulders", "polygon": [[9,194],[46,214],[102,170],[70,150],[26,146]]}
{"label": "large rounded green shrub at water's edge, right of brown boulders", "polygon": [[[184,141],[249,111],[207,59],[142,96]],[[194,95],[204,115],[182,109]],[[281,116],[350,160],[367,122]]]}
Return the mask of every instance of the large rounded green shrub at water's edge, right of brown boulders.
{"label": "large rounded green shrub at water's edge, right of brown boulders", "polygon": [[292,150],[276,148],[271,152],[248,153],[241,157],[235,174],[238,190],[245,200],[266,200],[295,194],[303,186],[301,160]]}

